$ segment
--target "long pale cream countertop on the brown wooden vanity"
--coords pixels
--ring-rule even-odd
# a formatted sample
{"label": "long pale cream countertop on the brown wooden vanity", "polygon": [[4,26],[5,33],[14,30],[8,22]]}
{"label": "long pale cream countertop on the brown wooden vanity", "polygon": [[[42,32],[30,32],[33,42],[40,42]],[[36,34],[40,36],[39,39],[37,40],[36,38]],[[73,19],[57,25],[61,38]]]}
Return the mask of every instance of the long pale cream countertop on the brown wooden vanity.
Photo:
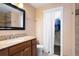
{"label": "long pale cream countertop on the brown wooden vanity", "polygon": [[34,38],[36,38],[36,37],[35,36],[25,36],[25,37],[19,37],[19,38],[0,41],[0,50],[13,46],[13,45],[16,45],[18,43],[24,42],[24,41],[32,40]]}

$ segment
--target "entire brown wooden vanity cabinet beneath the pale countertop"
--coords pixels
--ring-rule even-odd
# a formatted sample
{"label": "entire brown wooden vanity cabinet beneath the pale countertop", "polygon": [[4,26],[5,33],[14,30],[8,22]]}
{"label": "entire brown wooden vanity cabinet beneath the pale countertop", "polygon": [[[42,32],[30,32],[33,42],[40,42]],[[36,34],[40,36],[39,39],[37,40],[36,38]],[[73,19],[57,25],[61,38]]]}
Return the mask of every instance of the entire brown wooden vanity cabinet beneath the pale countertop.
{"label": "entire brown wooden vanity cabinet beneath the pale countertop", "polygon": [[0,56],[36,56],[36,52],[36,39],[32,39],[0,50]]}

